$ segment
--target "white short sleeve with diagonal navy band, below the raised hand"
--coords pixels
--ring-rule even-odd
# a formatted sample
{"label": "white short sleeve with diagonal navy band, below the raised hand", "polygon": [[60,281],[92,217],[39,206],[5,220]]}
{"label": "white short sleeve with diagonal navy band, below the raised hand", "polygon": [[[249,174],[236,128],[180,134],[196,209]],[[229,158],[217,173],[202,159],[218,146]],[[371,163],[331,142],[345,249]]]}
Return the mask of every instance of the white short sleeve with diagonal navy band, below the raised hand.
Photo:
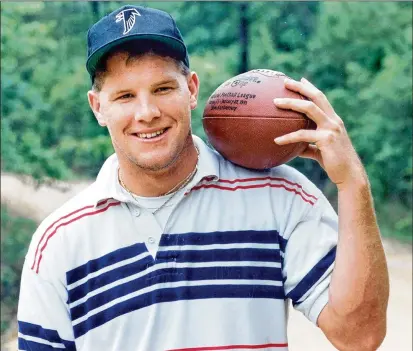
{"label": "white short sleeve with diagonal navy band, below the raised hand", "polygon": [[337,214],[320,194],[291,232],[283,259],[286,297],[314,324],[328,302],[337,240]]}

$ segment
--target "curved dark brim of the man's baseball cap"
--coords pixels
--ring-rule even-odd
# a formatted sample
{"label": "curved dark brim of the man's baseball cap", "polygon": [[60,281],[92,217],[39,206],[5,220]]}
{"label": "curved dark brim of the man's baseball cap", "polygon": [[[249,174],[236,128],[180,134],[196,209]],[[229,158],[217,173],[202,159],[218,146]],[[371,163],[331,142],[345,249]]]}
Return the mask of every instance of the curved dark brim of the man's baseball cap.
{"label": "curved dark brim of the man's baseball cap", "polygon": [[114,47],[123,44],[128,41],[157,41],[165,44],[170,48],[170,50],[175,54],[175,56],[178,56],[178,58],[182,59],[186,65],[188,65],[188,62],[185,61],[186,58],[186,48],[184,43],[182,43],[179,40],[176,40],[175,38],[168,37],[166,35],[160,35],[160,34],[136,34],[136,35],[129,35],[127,37],[120,38],[118,40],[115,40],[109,44],[106,44],[102,46],[101,48],[97,49],[87,60],[86,62],[86,68],[89,72],[89,74],[93,77],[95,74],[96,66],[100,59],[111,49]]}

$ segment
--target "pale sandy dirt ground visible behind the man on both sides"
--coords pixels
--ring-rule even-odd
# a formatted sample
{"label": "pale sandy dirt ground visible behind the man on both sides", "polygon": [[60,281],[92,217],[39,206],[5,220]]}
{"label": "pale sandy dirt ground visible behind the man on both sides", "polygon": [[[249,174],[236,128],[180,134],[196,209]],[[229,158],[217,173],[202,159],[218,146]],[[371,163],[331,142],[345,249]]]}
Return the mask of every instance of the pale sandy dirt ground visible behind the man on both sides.
{"label": "pale sandy dirt ground visible behind the man on both sides", "polygon": [[[22,216],[41,221],[64,201],[88,185],[81,183],[55,183],[35,188],[33,182],[11,174],[1,175],[1,203]],[[390,302],[387,336],[380,351],[412,350],[412,247],[396,241],[384,240],[389,272]],[[299,312],[291,309],[289,319],[289,349],[292,351],[332,351],[323,333]],[[15,351],[16,331],[6,337],[2,350]],[[6,341],[6,340],[5,340]]]}

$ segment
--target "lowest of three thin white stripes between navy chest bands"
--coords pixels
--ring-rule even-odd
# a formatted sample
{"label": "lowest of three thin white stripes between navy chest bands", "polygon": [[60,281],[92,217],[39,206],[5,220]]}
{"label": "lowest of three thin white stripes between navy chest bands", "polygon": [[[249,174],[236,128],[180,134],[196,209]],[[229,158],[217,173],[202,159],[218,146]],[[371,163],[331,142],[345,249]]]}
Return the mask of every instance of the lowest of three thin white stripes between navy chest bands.
{"label": "lowest of three thin white stripes between navy chest bands", "polygon": [[265,285],[265,286],[282,286],[282,282],[280,281],[274,281],[274,280],[250,280],[250,279],[245,279],[245,280],[234,280],[234,279],[222,279],[222,280],[196,280],[196,281],[183,281],[183,282],[174,282],[174,283],[159,283],[155,284],[152,286],[149,286],[147,288],[144,288],[139,291],[135,291],[133,293],[130,293],[125,296],[121,296],[115,300],[112,300],[98,308],[95,308],[91,311],[89,311],[87,314],[84,316],[76,319],[73,321],[73,325],[77,325],[79,323],[82,323],[89,317],[92,317],[93,315],[102,312],[110,307],[113,307],[117,305],[118,303],[124,302],[126,300],[132,299],[134,297],[146,294],[148,292],[152,292],[154,290],[158,289],[163,289],[163,288],[180,288],[184,286],[209,286],[209,285]]}

